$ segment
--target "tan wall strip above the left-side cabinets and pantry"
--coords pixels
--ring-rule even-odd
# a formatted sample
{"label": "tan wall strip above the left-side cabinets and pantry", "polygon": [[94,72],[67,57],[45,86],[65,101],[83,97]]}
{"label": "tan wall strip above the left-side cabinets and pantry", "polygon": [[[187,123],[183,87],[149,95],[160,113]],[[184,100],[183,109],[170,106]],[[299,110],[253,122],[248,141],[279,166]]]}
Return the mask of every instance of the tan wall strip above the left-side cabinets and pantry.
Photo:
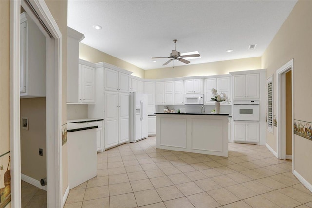
{"label": "tan wall strip above the left-side cabinets and pantry", "polygon": [[120,67],[122,69],[128,70],[130,72],[133,72],[132,73],[133,76],[144,78],[143,69],[135,65],[132,65],[126,61],[123,61],[117,57],[113,57],[109,54],[101,52],[83,43],[79,43],[79,58],[92,63],[106,62],[115,65],[117,67]]}

